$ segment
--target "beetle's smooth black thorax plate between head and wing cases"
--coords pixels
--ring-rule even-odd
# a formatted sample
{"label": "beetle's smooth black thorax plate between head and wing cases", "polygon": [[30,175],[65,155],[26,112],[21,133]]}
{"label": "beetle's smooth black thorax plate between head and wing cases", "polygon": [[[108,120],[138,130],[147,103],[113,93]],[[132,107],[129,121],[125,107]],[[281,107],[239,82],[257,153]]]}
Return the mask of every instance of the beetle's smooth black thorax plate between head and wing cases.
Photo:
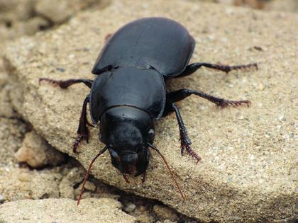
{"label": "beetle's smooth black thorax plate between head and wing cases", "polygon": [[161,117],[165,108],[165,81],[154,69],[120,67],[96,77],[90,94],[90,111],[94,123],[118,105],[129,105]]}

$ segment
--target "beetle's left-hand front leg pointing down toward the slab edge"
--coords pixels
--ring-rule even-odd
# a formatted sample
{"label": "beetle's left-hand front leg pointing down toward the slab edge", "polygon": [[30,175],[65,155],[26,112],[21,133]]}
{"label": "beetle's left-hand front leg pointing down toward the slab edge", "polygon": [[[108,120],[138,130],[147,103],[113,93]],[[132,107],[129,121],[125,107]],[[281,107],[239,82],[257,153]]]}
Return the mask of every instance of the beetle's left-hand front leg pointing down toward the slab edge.
{"label": "beetle's left-hand front leg pointing down toward the slab edge", "polygon": [[87,127],[87,103],[89,103],[89,95],[84,100],[81,117],[79,117],[79,127],[77,128],[78,136],[73,145],[73,151],[75,153],[77,153],[77,147],[79,146],[79,143],[82,141],[82,139],[86,139],[87,143],[89,139],[89,130]]}

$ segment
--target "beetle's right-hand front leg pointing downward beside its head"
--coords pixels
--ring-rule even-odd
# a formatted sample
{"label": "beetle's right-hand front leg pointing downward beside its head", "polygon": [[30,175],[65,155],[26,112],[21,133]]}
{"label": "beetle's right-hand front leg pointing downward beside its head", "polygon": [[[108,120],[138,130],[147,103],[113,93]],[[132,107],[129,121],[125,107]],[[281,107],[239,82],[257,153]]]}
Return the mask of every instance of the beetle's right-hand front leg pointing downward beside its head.
{"label": "beetle's right-hand front leg pointing downward beside its head", "polygon": [[192,147],[190,147],[190,145],[192,144],[192,141],[189,139],[188,135],[187,135],[187,128],[184,125],[184,122],[182,120],[180,111],[177,107],[177,105],[175,105],[175,103],[172,103],[172,108],[175,111],[176,114],[176,118],[178,121],[178,125],[179,125],[179,131],[180,131],[180,142],[181,142],[181,154],[184,154],[184,150],[187,151],[187,153],[192,156],[194,159],[197,159],[197,162],[199,162],[202,158],[200,156],[198,156],[193,150]]}

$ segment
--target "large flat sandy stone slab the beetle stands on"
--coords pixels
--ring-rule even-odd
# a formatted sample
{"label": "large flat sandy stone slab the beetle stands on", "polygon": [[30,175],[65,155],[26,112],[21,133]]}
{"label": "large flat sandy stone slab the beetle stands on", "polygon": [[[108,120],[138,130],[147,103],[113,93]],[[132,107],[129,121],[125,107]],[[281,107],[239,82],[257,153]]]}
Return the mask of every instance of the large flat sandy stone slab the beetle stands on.
{"label": "large flat sandy stone slab the beetle stands on", "polygon": [[298,70],[298,17],[294,14],[182,1],[115,1],[104,11],[81,13],[69,25],[22,38],[8,47],[6,69],[18,89],[10,93],[13,109],[53,147],[88,166],[103,147],[98,130],[91,130],[90,143],[83,143],[78,155],[72,153],[72,143],[89,90],[79,85],[67,90],[45,83],[39,86],[38,78],[93,79],[90,69],[106,34],[144,16],[165,16],[184,24],[197,41],[193,62],[260,64],[258,71],[228,76],[200,69],[170,81],[170,90],[193,88],[223,98],[247,98],[253,104],[222,110],[195,96],[179,103],[193,148],[203,158],[197,165],[189,156],[180,156],[175,115],[157,123],[155,145],[177,174],[186,201],[156,154],[151,156],[143,184],[140,178],[129,178],[131,184],[126,184],[111,166],[108,153],[96,161],[92,174],[202,221],[294,219]]}

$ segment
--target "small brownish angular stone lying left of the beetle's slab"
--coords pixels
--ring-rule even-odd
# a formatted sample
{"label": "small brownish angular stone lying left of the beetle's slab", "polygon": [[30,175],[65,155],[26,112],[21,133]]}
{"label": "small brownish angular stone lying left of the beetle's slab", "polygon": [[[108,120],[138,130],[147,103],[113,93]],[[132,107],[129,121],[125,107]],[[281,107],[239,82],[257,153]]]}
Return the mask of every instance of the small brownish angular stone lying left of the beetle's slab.
{"label": "small brownish angular stone lying left of the beetle's slab", "polygon": [[26,133],[23,145],[18,149],[15,157],[19,162],[26,162],[33,168],[57,166],[65,160],[64,154],[51,147],[34,131]]}

